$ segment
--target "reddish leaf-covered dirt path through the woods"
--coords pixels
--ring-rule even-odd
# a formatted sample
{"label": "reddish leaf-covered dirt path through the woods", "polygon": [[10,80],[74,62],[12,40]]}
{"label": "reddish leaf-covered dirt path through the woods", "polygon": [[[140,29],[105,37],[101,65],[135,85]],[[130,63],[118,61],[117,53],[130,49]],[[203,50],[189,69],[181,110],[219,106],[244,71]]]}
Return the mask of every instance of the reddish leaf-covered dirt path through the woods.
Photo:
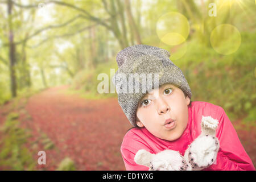
{"label": "reddish leaf-covered dirt path through the woods", "polygon": [[[38,164],[36,169],[55,170],[68,157],[75,162],[76,170],[125,170],[120,146],[131,125],[117,98],[90,101],[64,94],[66,88],[50,88],[30,97],[23,110],[31,118],[23,115],[19,119],[31,131],[35,161],[38,151],[46,152],[47,164]],[[255,126],[246,127],[241,121],[233,124],[255,165]],[[52,146],[46,148],[45,138]]]}

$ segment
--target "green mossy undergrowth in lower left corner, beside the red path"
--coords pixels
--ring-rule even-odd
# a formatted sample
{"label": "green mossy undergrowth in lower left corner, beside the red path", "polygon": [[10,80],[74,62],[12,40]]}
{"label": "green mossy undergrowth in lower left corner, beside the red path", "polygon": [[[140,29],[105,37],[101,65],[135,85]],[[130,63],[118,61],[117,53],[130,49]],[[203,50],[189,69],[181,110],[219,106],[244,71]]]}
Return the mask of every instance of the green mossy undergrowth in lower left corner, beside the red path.
{"label": "green mossy undergrowth in lower left corner, beside the red path", "polygon": [[0,168],[9,170],[32,170],[35,160],[24,145],[30,134],[21,127],[17,113],[10,113],[1,127]]}

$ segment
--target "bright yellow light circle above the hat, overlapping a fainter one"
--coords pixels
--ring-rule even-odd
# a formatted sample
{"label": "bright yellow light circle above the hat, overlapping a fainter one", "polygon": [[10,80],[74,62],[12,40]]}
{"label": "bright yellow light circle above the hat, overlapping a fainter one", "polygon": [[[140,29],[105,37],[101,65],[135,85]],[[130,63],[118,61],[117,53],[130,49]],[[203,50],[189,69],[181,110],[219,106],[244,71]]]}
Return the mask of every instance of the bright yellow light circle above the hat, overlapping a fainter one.
{"label": "bright yellow light circle above the hat, overlapping a fainter one", "polygon": [[189,34],[187,18],[177,12],[170,12],[160,16],[156,23],[156,34],[159,39],[170,46],[183,43]]}

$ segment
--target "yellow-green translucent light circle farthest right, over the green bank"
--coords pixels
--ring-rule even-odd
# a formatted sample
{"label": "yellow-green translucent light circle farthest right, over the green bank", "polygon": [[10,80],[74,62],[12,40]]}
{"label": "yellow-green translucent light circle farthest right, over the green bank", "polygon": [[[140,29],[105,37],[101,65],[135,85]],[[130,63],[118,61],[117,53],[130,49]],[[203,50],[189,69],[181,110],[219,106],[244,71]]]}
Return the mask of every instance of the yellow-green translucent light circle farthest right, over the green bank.
{"label": "yellow-green translucent light circle farthest right, over the green bank", "polygon": [[220,24],[210,34],[213,49],[222,54],[230,55],[241,45],[241,34],[232,24]]}

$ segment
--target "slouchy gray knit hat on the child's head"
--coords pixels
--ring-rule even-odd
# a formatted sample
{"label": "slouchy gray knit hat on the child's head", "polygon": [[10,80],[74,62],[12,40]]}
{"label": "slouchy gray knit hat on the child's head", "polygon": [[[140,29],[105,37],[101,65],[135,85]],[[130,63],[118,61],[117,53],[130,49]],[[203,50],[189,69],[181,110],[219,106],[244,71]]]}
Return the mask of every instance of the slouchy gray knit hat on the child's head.
{"label": "slouchy gray knit hat on the child's head", "polygon": [[[142,97],[163,84],[173,84],[191,98],[187,80],[169,57],[170,52],[165,49],[147,45],[130,46],[117,54],[118,70],[112,82],[117,90],[119,105],[131,125],[136,126],[136,110]],[[145,75],[146,81],[143,79]],[[129,76],[134,78],[130,82]],[[133,88],[139,89],[139,92]]]}

